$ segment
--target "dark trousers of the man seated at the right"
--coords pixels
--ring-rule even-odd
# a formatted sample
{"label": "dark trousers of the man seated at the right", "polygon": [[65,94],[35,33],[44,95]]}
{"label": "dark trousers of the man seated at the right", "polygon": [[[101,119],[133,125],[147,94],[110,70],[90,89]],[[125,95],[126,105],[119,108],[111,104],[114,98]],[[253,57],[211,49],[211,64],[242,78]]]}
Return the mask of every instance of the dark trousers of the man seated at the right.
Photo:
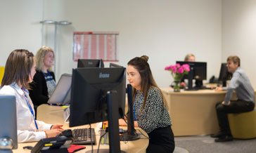
{"label": "dark trousers of the man seated at the right", "polygon": [[231,135],[228,113],[250,112],[254,107],[254,102],[245,102],[244,100],[231,100],[230,105],[222,105],[222,102],[217,102],[216,112],[220,131],[226,135]]}

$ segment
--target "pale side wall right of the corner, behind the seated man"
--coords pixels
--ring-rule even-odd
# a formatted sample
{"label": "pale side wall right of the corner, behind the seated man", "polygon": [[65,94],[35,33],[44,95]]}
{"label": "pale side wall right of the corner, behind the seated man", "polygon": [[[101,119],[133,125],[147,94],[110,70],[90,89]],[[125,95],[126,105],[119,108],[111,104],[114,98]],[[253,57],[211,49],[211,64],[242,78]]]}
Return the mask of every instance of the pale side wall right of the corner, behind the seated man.
{"label": "pale side wall right of the corner, behind the seated man", "polygon": [[238,55],[256,89],[256,1],[223,0],[222,25],[222,62],[229,55]]}

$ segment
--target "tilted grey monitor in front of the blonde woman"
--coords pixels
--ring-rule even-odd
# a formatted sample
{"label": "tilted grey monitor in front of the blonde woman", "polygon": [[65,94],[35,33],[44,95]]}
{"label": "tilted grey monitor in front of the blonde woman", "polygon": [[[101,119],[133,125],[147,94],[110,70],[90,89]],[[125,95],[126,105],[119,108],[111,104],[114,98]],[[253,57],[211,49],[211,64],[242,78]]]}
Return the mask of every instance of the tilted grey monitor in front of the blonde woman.
{"label": "tilted grey monitor in front of the blonde woman", "polygon": [[60,80],[53,91],[53,95],[48,100],[49,104],[66,105],[70,102],[71,94],[71,74],[62,74]]}

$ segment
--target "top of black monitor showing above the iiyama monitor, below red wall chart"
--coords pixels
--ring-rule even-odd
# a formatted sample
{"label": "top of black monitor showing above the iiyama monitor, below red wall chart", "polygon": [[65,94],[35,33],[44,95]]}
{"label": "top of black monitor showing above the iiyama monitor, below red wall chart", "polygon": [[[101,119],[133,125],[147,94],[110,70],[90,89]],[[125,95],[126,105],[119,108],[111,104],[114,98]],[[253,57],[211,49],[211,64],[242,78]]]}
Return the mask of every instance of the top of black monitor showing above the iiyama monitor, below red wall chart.
{"label": "top of black monitor showing above the iiyama monitor, below red wall chart", "polygon": [[102,59],[78,59],[77,67],[104,67],[104,63]]}

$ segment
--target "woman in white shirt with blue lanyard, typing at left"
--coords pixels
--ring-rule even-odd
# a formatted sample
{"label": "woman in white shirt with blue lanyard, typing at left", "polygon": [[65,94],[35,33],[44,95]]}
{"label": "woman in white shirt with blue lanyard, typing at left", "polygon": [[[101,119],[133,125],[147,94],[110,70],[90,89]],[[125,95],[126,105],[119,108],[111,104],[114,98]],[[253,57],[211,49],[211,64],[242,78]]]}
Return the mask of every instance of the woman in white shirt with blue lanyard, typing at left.
{"label": "woman in white shirt with blue lanyard, typing at left", "polygon": [[34,107],[27,89],[35,73],[33,53],[20,49],[8,56],[0,95],[14,95],[16,98],[18,142],[39,141],[55,137],[63,131],[61,124],[45,124],[34,117]]}

